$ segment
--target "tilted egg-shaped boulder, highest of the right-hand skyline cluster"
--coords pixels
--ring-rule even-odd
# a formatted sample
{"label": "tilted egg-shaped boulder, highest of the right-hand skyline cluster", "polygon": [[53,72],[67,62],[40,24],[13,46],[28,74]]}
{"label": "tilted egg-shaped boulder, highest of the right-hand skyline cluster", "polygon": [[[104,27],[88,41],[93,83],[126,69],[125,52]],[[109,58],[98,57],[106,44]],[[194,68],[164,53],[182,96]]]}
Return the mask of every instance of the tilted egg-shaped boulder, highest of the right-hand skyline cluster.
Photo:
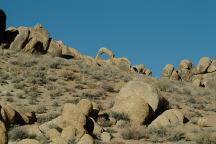
{"label": "tilted egg-shaped boulder, highest of the right-hand skyline cluster", "polygon": [[203,74],[207,72],[208,67],[211,65],[209,57],[202,57],[197,64],[197,73]]}

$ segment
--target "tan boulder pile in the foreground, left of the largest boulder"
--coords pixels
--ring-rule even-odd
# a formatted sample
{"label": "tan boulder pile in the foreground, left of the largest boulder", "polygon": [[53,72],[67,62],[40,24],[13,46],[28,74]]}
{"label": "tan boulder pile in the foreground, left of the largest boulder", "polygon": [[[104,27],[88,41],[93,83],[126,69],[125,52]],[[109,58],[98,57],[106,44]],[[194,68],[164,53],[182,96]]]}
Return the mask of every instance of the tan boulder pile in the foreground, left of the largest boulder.
{"label": "tan boulder pile in the foreground, left of the largest boulder", "polygon": [[[78,144],[93,144],[93,138],[108,141],[107,135],[111,135],[97,123],[98,113],[98,105],[87,99],[80,100],[77,105],[66,103],[60,117],[42,124],[39,129],[52,143],[67,144],[73,140]],[[57,125],[62,131],[50,129],[51,125]]]}

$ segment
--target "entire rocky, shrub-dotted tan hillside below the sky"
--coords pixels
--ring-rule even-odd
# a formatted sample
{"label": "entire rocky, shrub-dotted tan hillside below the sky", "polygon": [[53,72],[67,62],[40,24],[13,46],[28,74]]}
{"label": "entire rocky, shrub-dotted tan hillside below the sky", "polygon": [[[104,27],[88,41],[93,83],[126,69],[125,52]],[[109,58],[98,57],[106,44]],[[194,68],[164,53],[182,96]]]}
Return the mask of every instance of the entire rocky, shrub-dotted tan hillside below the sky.
{"label": "entire rocky, shrub-dotted tan hillside below the sky", "polygon": [[41,25],[0,35],[0,144],[216,143],[215,60],[153,78],[106,48],[80,54]]}

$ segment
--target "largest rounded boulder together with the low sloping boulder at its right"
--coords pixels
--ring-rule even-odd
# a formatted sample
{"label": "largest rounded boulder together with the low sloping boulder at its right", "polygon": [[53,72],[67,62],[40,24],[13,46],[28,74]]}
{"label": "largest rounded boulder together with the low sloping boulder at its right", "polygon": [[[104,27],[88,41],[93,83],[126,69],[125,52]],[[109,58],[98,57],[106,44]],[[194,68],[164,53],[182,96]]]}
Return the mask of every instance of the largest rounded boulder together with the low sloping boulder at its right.
{"label": "largest rounded boulder together with the low sloping boulder at its right", "polygon": [[112,111],[128,115],[135,126],[159,127],[185,122],[180,110],[169,109],[159,91],[143,81],[128,82],[116,96]]}

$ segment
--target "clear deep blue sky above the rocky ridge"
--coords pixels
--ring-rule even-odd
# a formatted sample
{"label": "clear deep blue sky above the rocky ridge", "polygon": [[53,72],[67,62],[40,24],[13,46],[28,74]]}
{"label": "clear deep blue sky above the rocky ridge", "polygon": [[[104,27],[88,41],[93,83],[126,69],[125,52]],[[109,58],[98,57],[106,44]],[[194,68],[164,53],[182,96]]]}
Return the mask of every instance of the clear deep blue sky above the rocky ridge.
{"label": "clear deep blue sky above the rocky ridge", "polygon": [[0,8],[7,27],[41,23],[83,54],[107,47],[154,76],[167,63],[216,56],[216,0],[0,0]]}

